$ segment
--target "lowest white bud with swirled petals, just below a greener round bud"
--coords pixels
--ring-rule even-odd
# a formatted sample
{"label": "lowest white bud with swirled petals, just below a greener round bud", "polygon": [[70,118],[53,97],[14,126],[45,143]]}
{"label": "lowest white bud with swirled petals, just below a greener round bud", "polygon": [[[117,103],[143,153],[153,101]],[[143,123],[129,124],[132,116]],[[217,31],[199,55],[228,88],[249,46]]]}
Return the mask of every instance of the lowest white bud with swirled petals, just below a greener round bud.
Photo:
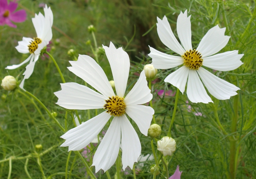
{"label": "lowest white bud with swirled petals, just below a greener round bud", "polygon": [[159,150],[164,156],[171,156],[176,150],[176,141],[173,138],[165,136],[162,140],[157,141],[157,150]]}

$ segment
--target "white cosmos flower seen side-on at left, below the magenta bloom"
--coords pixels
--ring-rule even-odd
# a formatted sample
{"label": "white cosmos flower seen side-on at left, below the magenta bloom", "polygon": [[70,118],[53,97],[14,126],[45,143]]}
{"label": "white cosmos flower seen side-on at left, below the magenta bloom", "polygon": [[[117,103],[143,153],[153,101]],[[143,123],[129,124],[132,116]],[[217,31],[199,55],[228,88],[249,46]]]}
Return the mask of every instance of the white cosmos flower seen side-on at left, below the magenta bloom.
{"label": "white cosmos flower seen side-on at left, below the magenta bloom", "polygon": [[51,8],[47,8],[45,5],[44,16],[39,12],[35,15],[35,18],[32,18],[33,25],[36,29],[36,35],[34,39],[29,37],[23,37],[22,41],[19,41],[19,45],[15,48],[18,52],[27,54],[30,53],[30,56],[22,63],[18,65],[7,66],[5,69],[16,69],[21,65],[28,63],[26,66],[26,71],[23,73],[24,78],[20,83],[20,88],[23,89],[25,79],[28,79],[35,67],[35,63],[39,58],[41,50],[49,44],[49,41],[52,39],[52,23],[53,23],[53,14]]}

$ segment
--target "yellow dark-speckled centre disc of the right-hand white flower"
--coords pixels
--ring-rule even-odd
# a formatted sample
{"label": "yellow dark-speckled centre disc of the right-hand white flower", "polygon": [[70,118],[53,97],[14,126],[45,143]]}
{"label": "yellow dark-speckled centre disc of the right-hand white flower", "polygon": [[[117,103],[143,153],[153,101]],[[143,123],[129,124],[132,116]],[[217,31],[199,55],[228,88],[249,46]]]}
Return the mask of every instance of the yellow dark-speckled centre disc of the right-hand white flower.
{"label": "yellow dark-speckled centre disc of the right-hand white flower", "polygon": [[184,58],[184,65],[189,69],[198,70],[203,65],[202,55],[196,49],[186,51],[182,58]]}

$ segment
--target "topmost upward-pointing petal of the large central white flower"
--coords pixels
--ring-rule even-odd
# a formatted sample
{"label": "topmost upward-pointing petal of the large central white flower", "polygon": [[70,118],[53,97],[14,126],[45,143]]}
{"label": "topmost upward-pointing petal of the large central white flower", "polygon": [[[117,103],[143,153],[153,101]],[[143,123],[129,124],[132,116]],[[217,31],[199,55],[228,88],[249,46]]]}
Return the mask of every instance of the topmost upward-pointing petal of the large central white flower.
{"label": "topmost upward-pointing petal of the large central white flower", "polygon": [[117,96],[123,97],[130,70],[130,59],[122,47],[117,48],[110,42],[109,47],[102,45],[111,67]]}

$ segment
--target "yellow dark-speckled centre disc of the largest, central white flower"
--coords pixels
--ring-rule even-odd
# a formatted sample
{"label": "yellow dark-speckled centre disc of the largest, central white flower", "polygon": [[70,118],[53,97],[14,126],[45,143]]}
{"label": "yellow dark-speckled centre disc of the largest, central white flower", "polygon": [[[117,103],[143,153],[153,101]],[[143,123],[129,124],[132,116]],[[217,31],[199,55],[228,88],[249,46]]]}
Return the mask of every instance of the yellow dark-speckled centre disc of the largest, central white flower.
{"label": "yellow dark-speckled centre disc of the largest, central white flower", "polygon": [[124,98],[119,96],[108,97],[106,104],[103,106],[104,109],[107,109],[107,113],[110,113],[112,116],[121,116],[125,113],[126,105],[124,103]]}

